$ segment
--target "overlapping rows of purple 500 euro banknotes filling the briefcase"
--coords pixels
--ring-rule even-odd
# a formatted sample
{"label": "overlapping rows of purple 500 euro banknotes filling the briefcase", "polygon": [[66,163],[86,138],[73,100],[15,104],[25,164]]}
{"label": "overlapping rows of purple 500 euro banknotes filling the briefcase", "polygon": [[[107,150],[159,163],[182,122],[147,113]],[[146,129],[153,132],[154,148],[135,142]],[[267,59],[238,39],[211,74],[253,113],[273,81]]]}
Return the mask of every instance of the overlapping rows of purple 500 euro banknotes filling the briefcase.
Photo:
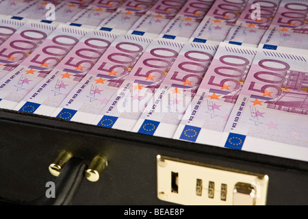
{"label": "overlapping rows of purple 500 euro banknotes filling the briefcase", "polygon": [[308,161],[308,0],[0,0],[0,14],[2,109]]}

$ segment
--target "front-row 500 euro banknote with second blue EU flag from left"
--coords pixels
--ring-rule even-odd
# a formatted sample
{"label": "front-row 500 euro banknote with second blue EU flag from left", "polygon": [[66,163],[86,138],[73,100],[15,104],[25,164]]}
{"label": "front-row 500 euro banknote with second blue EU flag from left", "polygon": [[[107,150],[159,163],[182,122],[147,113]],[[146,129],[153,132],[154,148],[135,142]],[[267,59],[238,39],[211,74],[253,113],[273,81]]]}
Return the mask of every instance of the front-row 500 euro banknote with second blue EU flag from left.
{"label": "front-row 500 euro banknote with second blue EU flag from left", "polygon": [[92,123],[122,86],[151,41],[140,36],[118,36],[51,116]]}

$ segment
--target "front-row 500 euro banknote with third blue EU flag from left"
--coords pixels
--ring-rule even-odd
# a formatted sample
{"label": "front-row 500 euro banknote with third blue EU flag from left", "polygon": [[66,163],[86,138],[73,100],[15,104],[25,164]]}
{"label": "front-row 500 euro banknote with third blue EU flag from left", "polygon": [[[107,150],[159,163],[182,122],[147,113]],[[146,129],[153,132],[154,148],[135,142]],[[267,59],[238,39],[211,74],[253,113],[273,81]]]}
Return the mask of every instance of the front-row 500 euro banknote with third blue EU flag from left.
{"label": "front-row 500 euro banknote with third blue EU flag from left", "polygon": [[92,124],[131,131],[182,47],[172,40],[153,40]]}

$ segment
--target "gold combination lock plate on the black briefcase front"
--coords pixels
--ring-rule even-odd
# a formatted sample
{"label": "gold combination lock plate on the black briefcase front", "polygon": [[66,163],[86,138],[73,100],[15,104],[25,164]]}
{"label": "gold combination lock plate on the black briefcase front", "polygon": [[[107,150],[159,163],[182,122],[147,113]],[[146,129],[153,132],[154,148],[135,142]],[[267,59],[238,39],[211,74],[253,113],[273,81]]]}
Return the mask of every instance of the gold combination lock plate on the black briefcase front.
{"label": "gold combination lock plate on the black briefcase front", "polygon": [[268,175],[157,155],[157,196],[181,205],[266,205]]}

